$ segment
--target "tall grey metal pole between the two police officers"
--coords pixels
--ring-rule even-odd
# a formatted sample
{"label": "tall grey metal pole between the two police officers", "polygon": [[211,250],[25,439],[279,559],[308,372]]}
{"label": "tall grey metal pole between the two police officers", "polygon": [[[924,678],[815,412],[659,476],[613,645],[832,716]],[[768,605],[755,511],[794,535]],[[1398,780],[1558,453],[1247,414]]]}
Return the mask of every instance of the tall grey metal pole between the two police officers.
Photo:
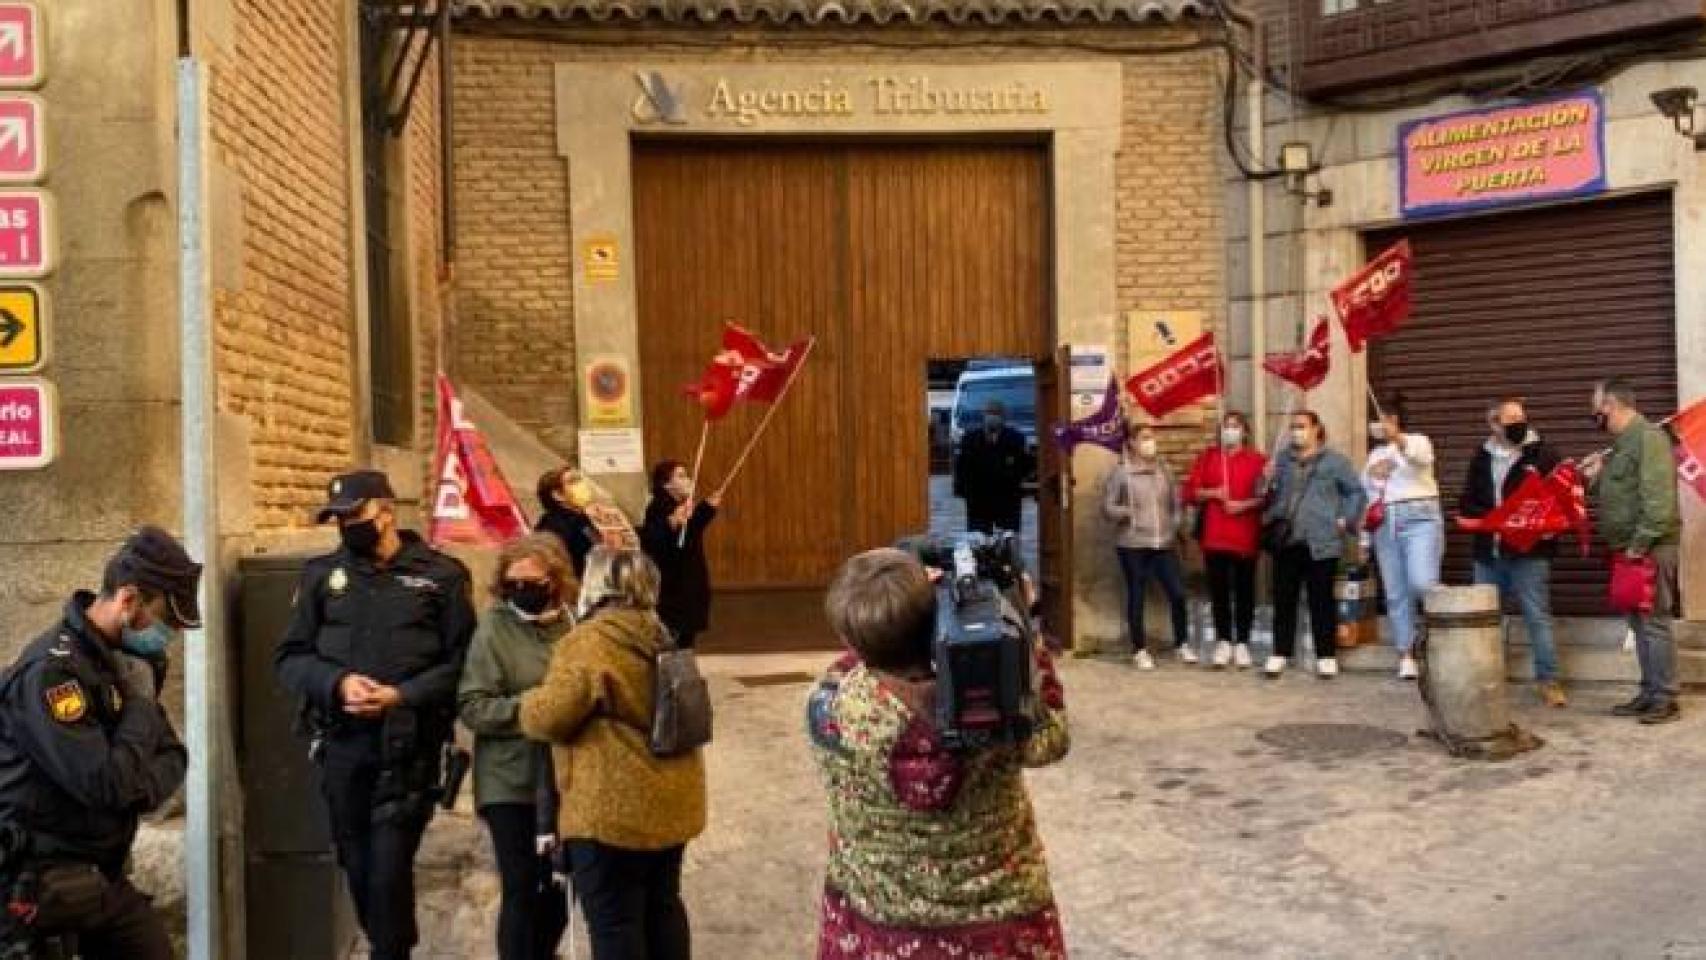
{"label": "tall grey metal pole between the two police officers", "polygon": [[208,275],[206,73],[177,61],[179,363],[183,375],[184,541],[203,563],[201,629],[184,643],[184,899],[191,960],[218,960],[220,795],[218,663],[225,638],[218,556],[218,486],[213,474],[213,331]]}

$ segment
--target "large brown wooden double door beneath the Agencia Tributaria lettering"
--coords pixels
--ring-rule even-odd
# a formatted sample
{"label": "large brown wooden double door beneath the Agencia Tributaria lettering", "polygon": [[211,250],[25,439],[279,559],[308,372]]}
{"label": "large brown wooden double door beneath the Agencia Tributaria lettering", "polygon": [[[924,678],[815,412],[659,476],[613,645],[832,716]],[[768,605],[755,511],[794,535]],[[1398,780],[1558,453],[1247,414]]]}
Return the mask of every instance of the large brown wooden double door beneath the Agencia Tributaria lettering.
{"label": "large brown wooden double door beneath the Agencia Tributaria lettering", "polygon": [[[930,358],[1053,356],[1046,148],[636,142],[633,181],[650,457],[693,459],[703,418],[682,384],[723,321],[817,338],[708,537],[727,638],[752,629],[732,595],[810,609],[850,554],[928,527]],[[764,413],[711,426],[701,489]]]}

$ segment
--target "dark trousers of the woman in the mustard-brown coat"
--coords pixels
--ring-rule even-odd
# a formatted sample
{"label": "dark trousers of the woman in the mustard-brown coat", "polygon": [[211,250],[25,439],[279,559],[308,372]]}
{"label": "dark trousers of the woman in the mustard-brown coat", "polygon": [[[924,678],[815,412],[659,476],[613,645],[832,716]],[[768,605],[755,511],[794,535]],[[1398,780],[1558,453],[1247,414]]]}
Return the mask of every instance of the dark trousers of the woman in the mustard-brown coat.
{"label": "dark trousers of the woman in the mustard-brown coat", "polygon": [[592,960],[691,960],[681,854],[570,841],[568,865],[587,916]]}

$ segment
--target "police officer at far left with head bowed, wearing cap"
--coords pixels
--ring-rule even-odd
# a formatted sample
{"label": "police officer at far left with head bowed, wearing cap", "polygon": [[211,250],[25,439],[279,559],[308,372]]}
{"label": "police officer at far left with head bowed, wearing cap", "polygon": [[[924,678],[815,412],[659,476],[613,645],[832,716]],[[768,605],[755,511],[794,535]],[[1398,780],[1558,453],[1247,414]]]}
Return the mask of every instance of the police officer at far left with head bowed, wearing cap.
{"label": "police officer at far left with head bowed, wearing cap", "polygon": [[107,561],[101,592],[73,593],[0,679],[5,957],[75,938],[85,960],[171,960],[125,863],[136,818],[184,781],[188,755],[157,697],[167,648],[201,626],[200,580],[177,541],[143,527]]}

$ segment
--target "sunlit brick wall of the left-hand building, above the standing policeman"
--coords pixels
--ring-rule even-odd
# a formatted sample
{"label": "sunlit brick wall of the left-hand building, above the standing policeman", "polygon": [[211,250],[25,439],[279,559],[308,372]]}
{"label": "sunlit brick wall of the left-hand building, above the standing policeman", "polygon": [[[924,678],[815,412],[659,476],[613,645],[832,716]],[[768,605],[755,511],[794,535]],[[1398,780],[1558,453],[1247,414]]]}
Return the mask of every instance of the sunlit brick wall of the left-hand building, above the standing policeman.
{"label": "sunlit brick wall of the left-hand building, above the standing policeman", "polygon": [[[355,257],[346,104],[357,38],[339,0],[234,0],[229,49],[210,53],[217,162],[241,206],[239,263],[215,278],[218,404],[249,426],[256,532],[312,522],[326,479],[365,450],[355,377]],[[438,363],[438,116],[428,68],[403,145],[408,297],[421,373],[416,447],[430,448],[430,373]],[[215,222],[217,225],[220,220]],[[217,237],[218,247],[222,239]],[[218,251],[217,251],[218,252]],[[425,466],[423,466],[425,472]]]}

